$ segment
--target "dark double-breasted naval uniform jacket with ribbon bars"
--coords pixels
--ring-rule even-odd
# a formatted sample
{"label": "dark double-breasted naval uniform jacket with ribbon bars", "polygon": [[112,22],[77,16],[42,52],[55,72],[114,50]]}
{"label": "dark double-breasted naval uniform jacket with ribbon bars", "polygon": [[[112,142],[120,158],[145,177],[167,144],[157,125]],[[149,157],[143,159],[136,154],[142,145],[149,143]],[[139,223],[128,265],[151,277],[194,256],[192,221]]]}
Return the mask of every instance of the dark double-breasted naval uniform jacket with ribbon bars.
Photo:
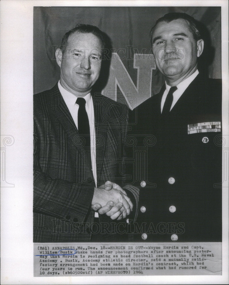
{"label": "dark double-breasted naval uniform jacket with ribbon bars", "polygon": [[134,240],[221,241],[221,82],[199,74],[163,119],[164,90],[132,114]]}

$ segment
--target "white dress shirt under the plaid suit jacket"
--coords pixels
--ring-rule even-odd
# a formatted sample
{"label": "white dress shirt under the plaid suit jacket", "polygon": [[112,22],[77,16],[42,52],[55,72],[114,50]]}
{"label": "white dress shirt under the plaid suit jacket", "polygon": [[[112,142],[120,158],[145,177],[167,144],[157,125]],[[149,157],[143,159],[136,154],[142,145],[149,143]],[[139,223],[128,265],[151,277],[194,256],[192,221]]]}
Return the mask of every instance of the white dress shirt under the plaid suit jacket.
{"label": "white dress shirt under the plaid suit jacket", "polygon": [[[58,88],[61,92],[61,95],[66,103],[70,114],[72,115],[72,119],[78,129],[78,110],[79,105],[76,104],[77,97],[69,92],[68,90],[64,89],[61,86],[60,81],[58,82]],[[93,100],[91,97],[91,93],[88,93],[83,97],[86,101],[85,109],[88,114],[88,121],[90,127],[90,138],[91,138],[91,165],[92,165],[92,172],[95,180],[95,187],[97,187],[97,173],[96,173],[96,147],[95,147],[95,116],[94,116],[94,107],[93,107]],[[95,217],[98,217],[98,213],[95,212]]]}

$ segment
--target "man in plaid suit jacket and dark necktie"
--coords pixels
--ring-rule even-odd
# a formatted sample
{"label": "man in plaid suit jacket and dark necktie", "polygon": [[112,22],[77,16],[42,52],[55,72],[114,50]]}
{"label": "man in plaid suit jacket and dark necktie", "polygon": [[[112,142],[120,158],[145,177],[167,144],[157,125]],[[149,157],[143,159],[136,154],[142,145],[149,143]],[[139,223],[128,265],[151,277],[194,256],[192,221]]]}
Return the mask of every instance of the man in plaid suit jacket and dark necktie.
{"label": "man in plaid suit jacket and dark necktie", "polygon": [[[34,96],[34,242],[125,240],[114,220],[133,207],[118,187],[125,173],[128,108],[92,90],[103,48],[97,27],[78,25],[67,32],[56,51],[60,81]],[[85,99],[89,149],[78,131],[77,98]],[[107,180],[113,182],[108,188]]]}

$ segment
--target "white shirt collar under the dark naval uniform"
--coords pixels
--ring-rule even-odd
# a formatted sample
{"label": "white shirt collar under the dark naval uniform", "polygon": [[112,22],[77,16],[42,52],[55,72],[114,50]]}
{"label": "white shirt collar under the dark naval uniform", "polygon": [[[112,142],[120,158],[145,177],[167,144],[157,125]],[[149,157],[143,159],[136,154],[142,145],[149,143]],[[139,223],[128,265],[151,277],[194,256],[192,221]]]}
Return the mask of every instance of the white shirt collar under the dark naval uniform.
{"label": "white shirt collar under the dark naval uniform", "polygon": [[[188,78],[186,78],[185,80],[183,80],[182,82],[180,82],[179,84],[177,84],[177,90],[173,92],[173,101],[172,101],[172,105],[170,108],[170,111],[172,110],[172,108],[174,107],[174,105],[176,104],[176,102],[178,101],[178,99],[180,98],[180,96],[184,93],[184,91],[186,90],[186,88],[189,86],[189,84],[197,77],[197,75],[199,74],[199,71],[196,70],[192,75],[190,75]],[[171,86],[169,86],[166,82],[165,82],[165,92],[163,93],[162,99],[161,99],[161,113],[165,104],[165,99],[167,97],[168,91],[170,89]]]}

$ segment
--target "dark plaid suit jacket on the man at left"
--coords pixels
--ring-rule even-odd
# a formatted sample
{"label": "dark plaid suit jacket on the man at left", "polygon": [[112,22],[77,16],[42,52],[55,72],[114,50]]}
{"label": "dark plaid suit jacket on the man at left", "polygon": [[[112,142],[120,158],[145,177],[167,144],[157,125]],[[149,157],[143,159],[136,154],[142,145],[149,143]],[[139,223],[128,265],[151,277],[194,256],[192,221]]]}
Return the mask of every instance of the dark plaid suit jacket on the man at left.
{"label": "dark plaid suit jacket on the man at left", "polygon": [[[122,185],[128,108],[101,94],[91,94],[97,187],[107,180]],[[56,84],[34,96],[34,242],[90,241],[94,187],[78,130]],[[99,215],[99,221],[106,224],[104,241],[123,239],[124,235],[109,229],[114,223],[109,217]]]}

